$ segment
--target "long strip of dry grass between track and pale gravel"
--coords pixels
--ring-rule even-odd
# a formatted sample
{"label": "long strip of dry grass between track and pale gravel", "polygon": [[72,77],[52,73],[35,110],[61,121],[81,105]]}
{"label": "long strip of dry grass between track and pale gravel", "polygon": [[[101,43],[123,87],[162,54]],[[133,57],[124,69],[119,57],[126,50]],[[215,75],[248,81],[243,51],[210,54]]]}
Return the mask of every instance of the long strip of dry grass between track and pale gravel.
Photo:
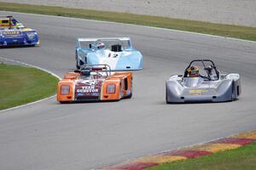
{"label": "long strip of dry grass between track and pale gravel", "polygon": [[19,3],[0,3],[0,10],[32,14],[49,14],[90,20],[107,20],[143,26],[156,26],[256,41],[256,27],[212,24],[195,20],[177,20],[141,14],[103,12],[87,9],[49,7]]}

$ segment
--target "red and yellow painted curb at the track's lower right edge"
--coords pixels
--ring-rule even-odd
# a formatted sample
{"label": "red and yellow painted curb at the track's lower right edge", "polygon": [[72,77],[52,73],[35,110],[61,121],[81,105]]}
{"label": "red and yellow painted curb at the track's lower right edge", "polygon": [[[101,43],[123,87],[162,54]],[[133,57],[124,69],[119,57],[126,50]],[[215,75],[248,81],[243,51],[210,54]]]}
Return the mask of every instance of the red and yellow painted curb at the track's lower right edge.
{"label": "red and yellow painted curb at the track's lower right edge", "polygon": [[224,150],[235,150],[241,146],[251,144],[256,141],[256,130],[245,133],[238,133],[223,139],[212,140],[204,144],[195,144],[183,147],[178,150],[168,150],[156,155],[143,156],[117,165],[96,168],[95,170],[143,170],[147,167],[158,166],[172,161],[183,161],[199,156],[207,156]]}

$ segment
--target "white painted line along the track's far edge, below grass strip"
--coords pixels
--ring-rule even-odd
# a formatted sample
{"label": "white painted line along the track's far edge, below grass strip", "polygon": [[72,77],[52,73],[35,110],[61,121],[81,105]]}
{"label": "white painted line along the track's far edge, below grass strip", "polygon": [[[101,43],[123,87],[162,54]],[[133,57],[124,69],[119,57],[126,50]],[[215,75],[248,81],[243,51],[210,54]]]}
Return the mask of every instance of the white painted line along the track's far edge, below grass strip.
{"label": "white painted line along the track's far edge, below grass strip", "polygon": [[[29,14],[29,13],[20,13],[20,12],[11,12],[11,11],[0,11],[0,12],[15,13],[15,14]],[[204,34],[204,33],[191,32],[191,31],[180,31],[180,30],[173,30],[173,29],[169,29],[169,28],[160,28],[160,27],[154,27],[154,26],[139,26],[139,25],[134,25],[134,24],[125,24],[125,23],[113,22],[113,21],[88,20],[88,19],[79,19],[79,18],[71,18],[71,17],[55,16],[55,15],[46,15],[46,14],[29,14],[29,15],[38,15],[38,16],[43,16],[43,17],[47,16],[47,17],[51,17],[51,18],[72,19],[72,20],[87,20],[87,21],[94,21],[94,22],[100,22],[100,23],[119,24],[119,25],[124,25],[124,26],[148,27],[148,28],[157,29],[157,30],[176,31],[176,32],[181,32],[181,33],[194,34],[194,35],[198,35],[198,36],[217,37],[217,38],[233,40],[233,41],[256,43],[256,41],[243,40],[243,39],[239,39],[239,38],[235,38],[235,37],[223,37],[223,36],[216,36],[216,35],[211,35],[211,34]],[[214,24],[214,23],[212,23],[212,24]]]}

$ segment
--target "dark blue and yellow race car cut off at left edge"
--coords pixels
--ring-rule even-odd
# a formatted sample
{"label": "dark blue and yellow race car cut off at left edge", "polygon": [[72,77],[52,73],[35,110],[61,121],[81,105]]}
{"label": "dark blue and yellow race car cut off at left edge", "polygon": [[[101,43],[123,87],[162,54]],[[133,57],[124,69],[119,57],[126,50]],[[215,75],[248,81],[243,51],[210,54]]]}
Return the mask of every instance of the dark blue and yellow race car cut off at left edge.
{"label": "dark blue and yellow race car cut off at left edge", "polygon": [[38,32],[23,26],[13,16],[0,16],[0,47],[39,45]]}

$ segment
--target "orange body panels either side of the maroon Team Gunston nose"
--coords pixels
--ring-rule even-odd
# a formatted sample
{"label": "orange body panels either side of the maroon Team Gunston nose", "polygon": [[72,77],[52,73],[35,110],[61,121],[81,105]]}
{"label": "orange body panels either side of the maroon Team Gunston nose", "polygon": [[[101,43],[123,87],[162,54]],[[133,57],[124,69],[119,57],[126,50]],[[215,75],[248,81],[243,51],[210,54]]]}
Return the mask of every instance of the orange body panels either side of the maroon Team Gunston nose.
{"label": "orange body panels either side of the maroon Team Gunston nose", "polygon": [[[80,76],[81,75],[78,72],[68,72],[63,79],[58,82],[58,101],[61,103],[67,103],[80,100],[76,96],[76,84],[77,82],[83,80]],[[108,86],[114,87],[112,88],[112,90],[114,90],[111,91],[111,93],[108,92]],[[102,81],[101,90],[98,97],[93,100],[119,100],[122,98],[131,98],[131,95],[132,72],[115,72],[113,75],[105,77],[105,79]]]}

